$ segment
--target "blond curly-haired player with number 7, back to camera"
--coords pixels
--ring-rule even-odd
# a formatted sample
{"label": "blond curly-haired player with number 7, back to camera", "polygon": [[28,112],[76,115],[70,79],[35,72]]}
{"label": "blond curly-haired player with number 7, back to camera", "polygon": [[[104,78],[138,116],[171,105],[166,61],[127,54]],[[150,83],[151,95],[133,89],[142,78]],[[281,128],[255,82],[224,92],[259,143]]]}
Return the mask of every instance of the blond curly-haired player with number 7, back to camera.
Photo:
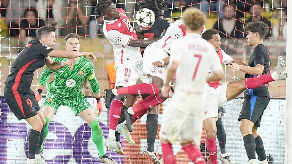
{"label": "blond curly-haired player with number 7, back to camera", "polygon": [[[201,153],[192,143],[199,144],[201,124],[206,99],[206,81],[223,79],[223,69],[214,47],[201,38],[201,28],[206,16],[199,9],[189,8],[183,12],[186,36],[175,40],[171,46],[170,66],[167,79],[161,91],[168,96],[168,83],[176,73],[176,90],[171,104],[165,110],[160,130],[160,140],[165,164],[175,164],[171,145],[180,136],[182,149],[196,164],[205,164]],[[208,70],[213,73],[208,76]]]}

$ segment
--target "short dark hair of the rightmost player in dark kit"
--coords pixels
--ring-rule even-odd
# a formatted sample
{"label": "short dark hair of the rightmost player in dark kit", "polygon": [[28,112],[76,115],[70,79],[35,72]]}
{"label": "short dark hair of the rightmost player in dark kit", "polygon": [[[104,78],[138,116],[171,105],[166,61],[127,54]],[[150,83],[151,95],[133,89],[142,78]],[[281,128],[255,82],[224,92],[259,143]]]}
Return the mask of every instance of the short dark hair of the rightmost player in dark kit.
{"label": "short dark hair of the rightmost player in dark kit", "polygon": [[263,21],[250,22],[244,26],[244,32],[258,33],[261,39],[264,39],[269,32],[269,26]]}

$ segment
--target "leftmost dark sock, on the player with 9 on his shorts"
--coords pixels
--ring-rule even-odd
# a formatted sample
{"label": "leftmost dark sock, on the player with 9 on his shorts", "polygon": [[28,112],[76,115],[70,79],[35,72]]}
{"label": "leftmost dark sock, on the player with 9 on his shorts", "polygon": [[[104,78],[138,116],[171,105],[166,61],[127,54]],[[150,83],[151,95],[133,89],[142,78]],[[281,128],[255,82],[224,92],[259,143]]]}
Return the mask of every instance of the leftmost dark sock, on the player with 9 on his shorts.
{"label": "leftmost dark sock, on the player with 9 on his shorts", "polygon": [[30,129],[29,132],[29,159],[34,159],[37,147],[40,144],[40,134],[41,132],[37,130]]}

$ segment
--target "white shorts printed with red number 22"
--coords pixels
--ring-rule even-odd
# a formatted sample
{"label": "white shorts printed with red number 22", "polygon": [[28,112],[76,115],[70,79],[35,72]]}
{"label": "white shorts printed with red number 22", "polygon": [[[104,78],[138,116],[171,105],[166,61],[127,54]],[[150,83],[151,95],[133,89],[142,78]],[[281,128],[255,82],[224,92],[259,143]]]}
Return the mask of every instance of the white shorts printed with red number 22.
{"label": "white shorts printed with red number 22", "polygon": [[143,60],[135,63],[119,64],[116,69],[116,87],[128,87],[135,85],[138,79],[143,83],[149,83],[146,75],[143,75]]}

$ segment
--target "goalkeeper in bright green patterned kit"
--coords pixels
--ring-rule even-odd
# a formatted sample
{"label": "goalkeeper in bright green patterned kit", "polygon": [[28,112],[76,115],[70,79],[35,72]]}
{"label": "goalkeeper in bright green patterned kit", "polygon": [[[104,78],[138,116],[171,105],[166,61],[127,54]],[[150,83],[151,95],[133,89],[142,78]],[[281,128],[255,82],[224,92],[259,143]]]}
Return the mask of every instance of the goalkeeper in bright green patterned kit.
{"label": "goalkeeper in bright green patterned kit", "polygon": [[[79,51],[80,43],[78,35],[75,33],[68,34],[65,37],[65,48],[66,50]],[[66,58],[53,58],[54,62],[62,62],[67,60]],[[45,87],[50,74],[55,72],[55,79],[48,85],[48,93],[46,95],[45,102],[43,104],[42,113],[45,117],[45,129],[44,129],[44,141],[48,136],[48,124],[52,119],[53,115],[56,114],[59,106],[69,106],[74,114],[81,117],[88,123],[91,128],[91,138],[97,147],[99,160],[102,163],[117,164],[116,161],[112,160],[105,154],[104,143],[103,143],[103,132],[100,128],[97,117],[102,112],[102,103],[100,101],[100,87],[94,74],[94,66],[90,60],[84,57],[78,57],[72,59],[74,67],[72,71],[68,66],[57,71],[51,71],[46,68],[42,73],[39,81],[38,90],[36,93],[37,101],[41,100],[42,89]],[[97,107],[95,112],[93,111],[89,102],[85,99],[82,93],[82,86],[87,77],[91,89],[94,93],[97,101]],[[41,152],[43,151],[43,145],[41,146]]]}

